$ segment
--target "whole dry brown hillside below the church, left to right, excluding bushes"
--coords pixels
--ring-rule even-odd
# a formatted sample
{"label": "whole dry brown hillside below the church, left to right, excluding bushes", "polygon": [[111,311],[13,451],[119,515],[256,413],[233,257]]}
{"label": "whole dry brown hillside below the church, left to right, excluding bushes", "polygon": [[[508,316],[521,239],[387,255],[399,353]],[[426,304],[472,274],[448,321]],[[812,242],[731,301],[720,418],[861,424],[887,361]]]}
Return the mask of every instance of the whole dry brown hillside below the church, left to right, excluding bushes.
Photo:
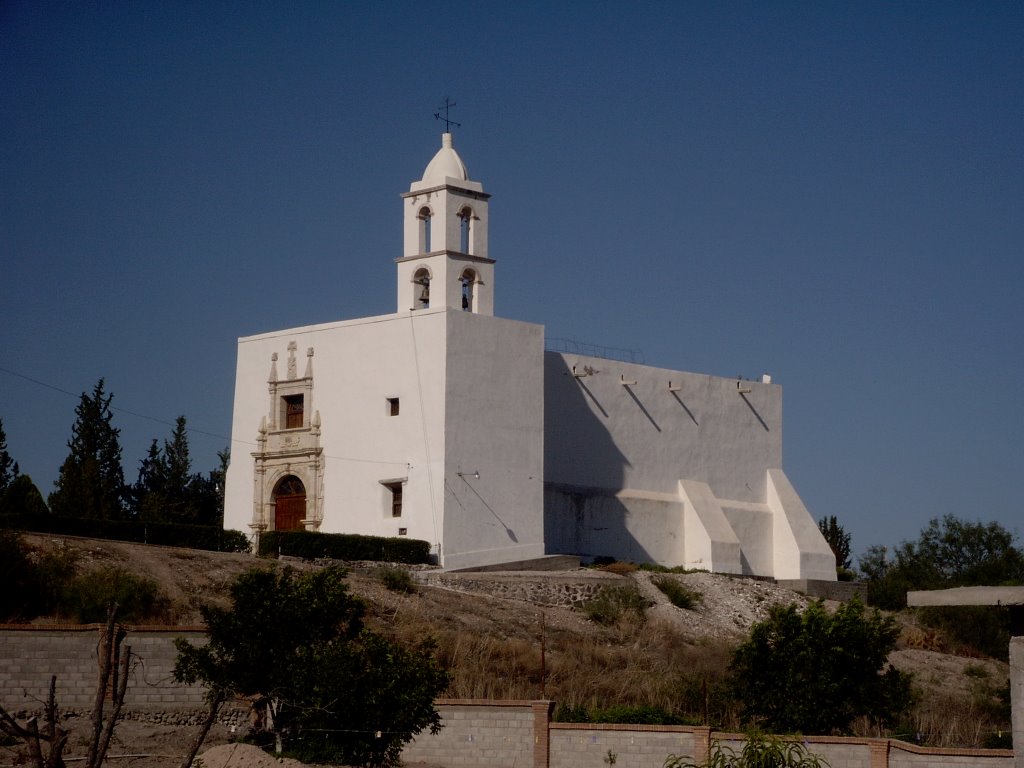
{"label": "whole dry brown hillside below the church, left to right, excluding bushes", "polygon": [[[117,566],[156,582],[166,600],[146,624],[195,626],[204,602],[226,604],[245,570],[281,567],[250,555],[98,540],[26,536],[34,556],[73,564],[76,572]],[[314,567],[292,562],[293,567]],[[738,707],[724,681],[732,650],[769,606],[806,598],[773,584],[709,573],[667,574],[683,590],[658,589],[651,575],[621,568],[621,595],[597,612],[541,606],[487,594],[425,586],[415,571],[356,564],[352,591],[370,604],[369,624],[400,641],[431,637],[456,698],[558,702],[556,717],[634,722],[709,723],[735,729]],[[617,589],[617,588],[616,588]],[[607,598],[606,598],[607,599]],[[678,607],[679,603],[689,607]],[[40,617],[34,623],[68,621]],[[998,743],[1009,728],[1007,665],[945,652],[942,636],[901,616],[891,662],[914,674],[918,701],[895,734],[935,745]],[[868,735],[866,722],[855,730]]]}

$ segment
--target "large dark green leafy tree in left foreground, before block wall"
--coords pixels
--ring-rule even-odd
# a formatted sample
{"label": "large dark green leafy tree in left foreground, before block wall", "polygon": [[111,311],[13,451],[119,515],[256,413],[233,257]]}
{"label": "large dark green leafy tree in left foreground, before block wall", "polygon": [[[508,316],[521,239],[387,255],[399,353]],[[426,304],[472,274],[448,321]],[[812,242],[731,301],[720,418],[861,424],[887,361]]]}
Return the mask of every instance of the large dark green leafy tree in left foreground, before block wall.
{"label": "large dark green leafy tree in left foreground, before block wall", "polygon": [[261,715],[257,740],[278,752],[389,766],[414,734],[440,727],[433,700],[449,678],[431,646],[406,648],[367,630],[344,569],[250,570],[230,599],[230,608],[203,608],[206,645],[177,642],[175,678],[209,691],[206,729],[228,696],[251,696]]}

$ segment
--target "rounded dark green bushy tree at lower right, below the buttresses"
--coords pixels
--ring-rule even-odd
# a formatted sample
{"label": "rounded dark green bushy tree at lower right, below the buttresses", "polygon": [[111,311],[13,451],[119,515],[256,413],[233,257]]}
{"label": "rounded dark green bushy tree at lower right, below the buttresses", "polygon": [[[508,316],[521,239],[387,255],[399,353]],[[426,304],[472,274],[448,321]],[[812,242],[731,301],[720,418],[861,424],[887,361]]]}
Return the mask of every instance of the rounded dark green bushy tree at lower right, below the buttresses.
{"label": "rounded dark green bushy tree at lower right, below the buttresses", "polygon": [[911,702],[909,676],[886,660],[898,634],[859,599],[831,614],[822,601],[775,606],[733,654],[743,716],[786,733],[843,732],[862,715],[893,725]]}

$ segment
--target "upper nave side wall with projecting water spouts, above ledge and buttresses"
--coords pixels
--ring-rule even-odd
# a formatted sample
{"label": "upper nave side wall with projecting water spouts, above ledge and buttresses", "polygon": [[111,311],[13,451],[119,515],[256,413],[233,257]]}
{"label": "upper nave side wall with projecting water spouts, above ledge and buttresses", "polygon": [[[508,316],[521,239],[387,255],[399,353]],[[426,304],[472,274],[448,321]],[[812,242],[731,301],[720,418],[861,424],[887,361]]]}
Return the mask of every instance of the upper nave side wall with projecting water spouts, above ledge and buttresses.
{"label": "upper nave side wall with projecting water spouts, above ledge and buttresses", "polygon": [[[548,482],[676,495],[685,478],[720,499],[764,502],[765,469],[782,466],[778,385],[743,381],[751,392],[740,395],[735,379],[560,352],[545,359]],[[597,373],[574,378],[573,366]]]}

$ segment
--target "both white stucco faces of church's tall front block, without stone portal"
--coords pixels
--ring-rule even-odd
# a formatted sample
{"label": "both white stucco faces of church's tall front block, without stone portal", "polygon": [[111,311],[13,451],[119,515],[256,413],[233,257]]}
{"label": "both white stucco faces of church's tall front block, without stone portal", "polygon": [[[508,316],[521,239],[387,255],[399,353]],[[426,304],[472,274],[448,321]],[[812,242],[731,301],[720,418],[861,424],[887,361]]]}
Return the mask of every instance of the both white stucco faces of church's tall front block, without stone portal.
{"label": "both white stucco faces of church's tall front block, without stone portal", "polygon": [[[283,377],[291,341],[314,350],[321,531],[404,528],[446,567],[544,554],[543,329],[443,308],[239,340],[226,527],[248,531],[253,521],[251,452],[269,411],[270,355]],[[388,412],[393,397],[398,416]],[[403,481],[400,517],[382,480]]]}

